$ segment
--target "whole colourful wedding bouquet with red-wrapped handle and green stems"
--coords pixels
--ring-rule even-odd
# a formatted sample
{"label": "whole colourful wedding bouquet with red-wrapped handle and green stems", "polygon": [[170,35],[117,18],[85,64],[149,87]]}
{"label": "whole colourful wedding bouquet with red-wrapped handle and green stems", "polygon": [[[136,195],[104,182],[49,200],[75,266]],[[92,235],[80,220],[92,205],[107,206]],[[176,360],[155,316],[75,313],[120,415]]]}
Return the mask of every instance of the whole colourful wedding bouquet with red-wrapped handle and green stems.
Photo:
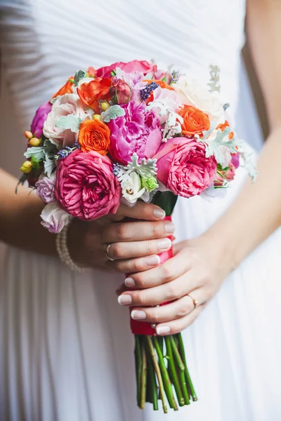
{"label": "whole colourful wedding bouquet with red-wrapped handle and green stems", "polygon": [[[58,233],[71,218],[95,220],[138,200],[161,206],[169,219],[178,196],[226,187],[249,162],[230,128],[228,104],[215,95],[218,74],[211,67],[204,87],[134,60],[70,77],[25,132],[20,181],[46,203],[42,225]],[[172,254],[162,253],[161,262]],[[138,406],[151,402],[157,410],[160,399],[166,413],[166,400],[174,410],[196,401],[181,334],[157,337],[155,326],[133,320],[131,330]]]}

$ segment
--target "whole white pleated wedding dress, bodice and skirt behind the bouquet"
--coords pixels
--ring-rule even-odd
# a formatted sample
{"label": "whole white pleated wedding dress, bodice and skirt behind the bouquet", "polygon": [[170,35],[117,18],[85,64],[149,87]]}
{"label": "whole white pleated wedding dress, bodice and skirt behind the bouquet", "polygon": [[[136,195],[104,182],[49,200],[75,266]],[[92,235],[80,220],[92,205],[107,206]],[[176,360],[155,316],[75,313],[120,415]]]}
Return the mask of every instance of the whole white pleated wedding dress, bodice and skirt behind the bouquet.
{"label": "whole white pleated wedding dress, bodice and skirt behind the bouquet", "polygon": [[[4,77],[22,131],[75,69],[136,58],[174,64],[206,82],[209,64],[218,65],[223,101],[235,114],[244,0],[0,5]],[[177,241],[219,218],[244,178],[238,171],[226,195],[211,202],[180,199]],[[136,407],[129,312],[115,295],[123,277],[74,274],[57,258],[10,249],[0,296],[0,420],[279,421],[280,249],[278,229],[183,332],[199,400],[169,415]]]}

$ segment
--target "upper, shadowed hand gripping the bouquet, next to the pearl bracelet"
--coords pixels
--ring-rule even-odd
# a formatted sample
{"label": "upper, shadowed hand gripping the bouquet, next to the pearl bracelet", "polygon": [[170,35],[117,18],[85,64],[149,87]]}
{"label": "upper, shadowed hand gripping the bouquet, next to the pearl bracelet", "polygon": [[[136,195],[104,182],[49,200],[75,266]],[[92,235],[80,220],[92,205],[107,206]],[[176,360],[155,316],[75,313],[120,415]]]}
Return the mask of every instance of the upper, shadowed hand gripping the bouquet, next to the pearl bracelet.
{"label": "upper, shadowed hand gripping the bouquet, next to the pearl bracelet", "polygon": [[[70,255],[81,264],[122,273],[155,267],[158,254],[171,248],[167,236],[174,232],[174,224],[163,220],[164,216],[158,206],[137,202],[132,208],[121,204],[115,215],[93,222],[73,220],[68,236]],[[124,218],[140,221],[122,222]],[[114,261],[108,260],[107,252]]]}

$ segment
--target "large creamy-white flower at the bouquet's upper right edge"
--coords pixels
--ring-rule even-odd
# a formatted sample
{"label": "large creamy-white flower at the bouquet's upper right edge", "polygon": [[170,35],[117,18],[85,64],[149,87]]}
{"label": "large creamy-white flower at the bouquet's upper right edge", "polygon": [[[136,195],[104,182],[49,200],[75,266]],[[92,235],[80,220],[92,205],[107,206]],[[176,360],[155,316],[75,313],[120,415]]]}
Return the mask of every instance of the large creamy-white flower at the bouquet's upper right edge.
{"label": "large creamy-white flower at the bouquet's upper right edge", "polygon": [[218,98],[210,93],[207,88],[196,79],[188,79],[181,76],[177,83],[173,83],[174,90],[181,95],[184,105],[192,105],[209,115],[209,118],[217,119],[223,113],[223,105]]}

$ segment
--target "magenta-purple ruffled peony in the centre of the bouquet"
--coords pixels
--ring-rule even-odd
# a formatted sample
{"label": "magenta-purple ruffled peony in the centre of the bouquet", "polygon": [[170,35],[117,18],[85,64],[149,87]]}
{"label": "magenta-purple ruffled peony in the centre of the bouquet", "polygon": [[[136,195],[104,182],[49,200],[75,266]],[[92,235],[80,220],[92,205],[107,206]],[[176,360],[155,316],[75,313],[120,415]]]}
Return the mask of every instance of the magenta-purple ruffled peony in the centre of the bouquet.
{"label": "magenta-purple ruffled peony in the centre of the bouquet", "polygon": [[122,164],[131,161],[133,152],[142,158],[156,154],[162,142],[161,124],[152,111],[145,112],[145,104],[133,101],[121,106],[125,115],[110,120],[110,155]]}

